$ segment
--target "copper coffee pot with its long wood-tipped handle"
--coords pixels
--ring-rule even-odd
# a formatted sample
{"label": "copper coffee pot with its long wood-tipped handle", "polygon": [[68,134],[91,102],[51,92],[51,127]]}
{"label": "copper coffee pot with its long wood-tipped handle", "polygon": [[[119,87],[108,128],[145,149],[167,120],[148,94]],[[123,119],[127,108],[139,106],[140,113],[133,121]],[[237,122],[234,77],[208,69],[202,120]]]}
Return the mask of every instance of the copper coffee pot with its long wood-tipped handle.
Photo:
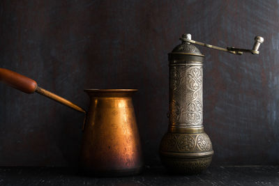
{"label": "copper coffee pot with its long wood-tipped handle", "polygon": [[132,102],[136,89],[86,89],[89,111],[43,88],[33,79],[0,68],[0,81],[24,93],[39,93],[85,114],[80,165],[93,176],[128,176],[143,168]]}

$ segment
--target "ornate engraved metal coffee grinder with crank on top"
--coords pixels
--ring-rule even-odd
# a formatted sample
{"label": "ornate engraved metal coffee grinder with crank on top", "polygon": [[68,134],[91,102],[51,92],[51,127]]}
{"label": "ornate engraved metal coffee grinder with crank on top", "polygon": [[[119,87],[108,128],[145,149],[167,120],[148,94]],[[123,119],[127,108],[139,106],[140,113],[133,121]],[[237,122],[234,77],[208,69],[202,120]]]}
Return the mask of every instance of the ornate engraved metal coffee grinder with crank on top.
{"label": "ornate engraved metal coffee grinder with crank on top", "polygon": [[264,38],[255,37],[252,49],[216,47],[183,34],[182,43],[169,53],[169,127],[160,144],[160,158],[172,173],[193,174],[211,164],[213,149],[202,123],[204,55],[192,45],[202,45],[231,54],[259,54]]}

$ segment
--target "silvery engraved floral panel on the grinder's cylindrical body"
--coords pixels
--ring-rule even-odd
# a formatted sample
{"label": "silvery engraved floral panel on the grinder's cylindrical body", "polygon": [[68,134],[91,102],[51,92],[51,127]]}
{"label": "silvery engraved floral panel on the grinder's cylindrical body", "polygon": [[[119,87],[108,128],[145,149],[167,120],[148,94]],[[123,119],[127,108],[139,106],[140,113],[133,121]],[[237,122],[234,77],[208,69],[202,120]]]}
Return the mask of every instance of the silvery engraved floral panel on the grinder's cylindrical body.
{"label": "silvery engraved floral panel on the grinder's cylindrical body", "polygon": [[171,125],[202,125],[202,66],[172,66],[169,95]]}

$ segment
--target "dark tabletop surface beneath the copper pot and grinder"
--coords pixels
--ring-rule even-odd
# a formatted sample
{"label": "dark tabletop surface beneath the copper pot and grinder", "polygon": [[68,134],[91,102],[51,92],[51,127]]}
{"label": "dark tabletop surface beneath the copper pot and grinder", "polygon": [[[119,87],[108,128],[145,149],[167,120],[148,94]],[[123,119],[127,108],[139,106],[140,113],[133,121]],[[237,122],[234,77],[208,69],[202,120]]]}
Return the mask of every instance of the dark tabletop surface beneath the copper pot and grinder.
{"label": "dark tabletop surface beneath the copper pot and grinder", "polygon": [[279,166],[210,166],[195,176],[146,166],[144,173],[122,178],[88,177],[73,168],[1,167],[0,185],[279,185]]}

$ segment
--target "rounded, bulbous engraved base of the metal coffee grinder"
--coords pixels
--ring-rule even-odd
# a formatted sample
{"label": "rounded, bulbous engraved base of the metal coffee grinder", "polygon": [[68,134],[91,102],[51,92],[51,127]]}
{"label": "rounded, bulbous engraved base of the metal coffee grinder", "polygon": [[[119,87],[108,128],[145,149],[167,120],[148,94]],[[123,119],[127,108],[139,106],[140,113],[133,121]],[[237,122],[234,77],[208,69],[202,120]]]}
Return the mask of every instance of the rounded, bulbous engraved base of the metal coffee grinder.
{"label": "rounded, bulbous engraved base of the metal coffee grinder", "polygon": [[169,171],[195,174],[211,164],[212,144],[203,129],[201,131],[165,134],[160,144],[160,158]]}

